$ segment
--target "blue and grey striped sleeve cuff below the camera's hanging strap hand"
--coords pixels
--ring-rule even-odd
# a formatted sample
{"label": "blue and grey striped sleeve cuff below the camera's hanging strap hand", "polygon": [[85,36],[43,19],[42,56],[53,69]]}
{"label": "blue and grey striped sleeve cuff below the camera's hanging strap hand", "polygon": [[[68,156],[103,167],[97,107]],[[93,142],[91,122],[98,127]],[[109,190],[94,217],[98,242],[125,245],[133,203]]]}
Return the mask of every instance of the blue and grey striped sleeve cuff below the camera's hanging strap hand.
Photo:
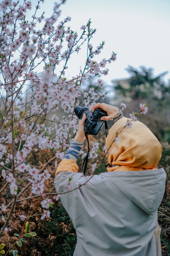
{"label": "blue and grey striped sleeve cuff below the camera's hanging strap hand", "polygon": [[63,159],[71,159],[76,162],[83,146],[84,143],[72,140]]}

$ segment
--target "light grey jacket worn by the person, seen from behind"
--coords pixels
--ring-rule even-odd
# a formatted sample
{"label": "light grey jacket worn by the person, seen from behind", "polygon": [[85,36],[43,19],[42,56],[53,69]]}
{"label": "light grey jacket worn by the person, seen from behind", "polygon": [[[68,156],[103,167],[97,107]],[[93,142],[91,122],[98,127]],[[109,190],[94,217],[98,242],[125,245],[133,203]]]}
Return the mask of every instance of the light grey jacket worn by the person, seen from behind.
{"label": "light grey jacket worn by the person, seen from behind", "polygon": [[[89,176],[59,172],[57,193],[87,182]],[[77,233],[74,256],[156,256],[157,209],[165,191],[164,169],[112,171],[60,194]]]}

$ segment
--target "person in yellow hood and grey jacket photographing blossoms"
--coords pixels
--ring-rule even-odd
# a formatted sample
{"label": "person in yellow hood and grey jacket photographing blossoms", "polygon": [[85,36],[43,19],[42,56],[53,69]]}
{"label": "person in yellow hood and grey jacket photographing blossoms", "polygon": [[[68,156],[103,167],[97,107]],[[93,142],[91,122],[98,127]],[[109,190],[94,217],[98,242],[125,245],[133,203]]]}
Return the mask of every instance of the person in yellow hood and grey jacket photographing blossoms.
{"label": "person in yellow hood and grey jacket photographing blossoms", "polygon": [[55,174],[56,191],[77,233],[73,256],[161,255],[154,232],[165,191],[165,171],[155,168],[162,146],[138,120],[126,128],[127,118],[116,106],[97,103],[92,111],[98,107],[108,114],[101,119],[115,121],[106,139],[107,172],[93,176],[78,172],[76,160],[86,139],[84,114]]}

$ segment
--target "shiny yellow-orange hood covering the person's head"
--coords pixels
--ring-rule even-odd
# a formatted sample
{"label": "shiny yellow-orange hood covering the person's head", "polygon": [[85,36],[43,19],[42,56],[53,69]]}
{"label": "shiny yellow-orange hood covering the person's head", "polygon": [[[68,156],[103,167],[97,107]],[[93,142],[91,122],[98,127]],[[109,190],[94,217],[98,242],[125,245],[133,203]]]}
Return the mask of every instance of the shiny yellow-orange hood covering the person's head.
{"label": "shiny yellow-orange hood covering the person's head", "polygon": [[[106,146],[111,146],[108,150],[108,163],[112,167],[107,167],[107,171],[154,169],[161,158],[162,146],[149,128],[137,120],[132,122],[131,128],[123,128],[127,119],[119,119],[109,129]],[[112,143],[119,131],[119,141]]]}

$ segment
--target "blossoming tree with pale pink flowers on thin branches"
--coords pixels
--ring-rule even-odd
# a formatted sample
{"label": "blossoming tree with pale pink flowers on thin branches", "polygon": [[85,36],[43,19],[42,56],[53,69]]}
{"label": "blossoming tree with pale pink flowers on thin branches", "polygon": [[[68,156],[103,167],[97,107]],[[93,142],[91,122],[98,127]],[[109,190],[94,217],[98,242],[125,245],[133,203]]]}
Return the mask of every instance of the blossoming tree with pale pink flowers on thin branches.
{"label": "blossoming tree with pale pink flowers on thin branches", "polygon": [[[103,86],[101,79],[89,91],[82,89],[82,85],[92,77],[107,75],[106,65],[116,60],[112,52],[109,58],[95,61],[104,42],[93,48],[90,40],[96,29],[91,28],[90,20],[81,26],[80,34],[67,25],[70,17],[56,23],[65,0],[55,3],[49,18],[44,12],[37,16],[43,2],[38,0],[35,10],[27,0],[0,2],[0,192],[11,193],[11,201],[0,204],[3,221],[0,236],[11,228],[10,219],[20,200],[41,196],[44,208],[41,219],[50,216],[46,209],[59,195],[49,198],[44,193],[50,177],[46,167],[48,163],[57,166],[78,128],[74,108],[83,103],[90,109],[100,97],[105,97],[97,91]],[[30,10],[31,20],[27,15]],[[67,78],[69,59],[79,54],[83,44],[87,47],[85,63],[80,63],[79,74]],[[53,113],[51,119],[49,113]],[[91,157],[97,157],[98,147],[94,142]],[[50,159],[48,150],[54,152]],[[40,152],[42,155],[44,152],[46,164],[37,162],[36,155]],[[20,218],[26,216],[20,214]]]}

